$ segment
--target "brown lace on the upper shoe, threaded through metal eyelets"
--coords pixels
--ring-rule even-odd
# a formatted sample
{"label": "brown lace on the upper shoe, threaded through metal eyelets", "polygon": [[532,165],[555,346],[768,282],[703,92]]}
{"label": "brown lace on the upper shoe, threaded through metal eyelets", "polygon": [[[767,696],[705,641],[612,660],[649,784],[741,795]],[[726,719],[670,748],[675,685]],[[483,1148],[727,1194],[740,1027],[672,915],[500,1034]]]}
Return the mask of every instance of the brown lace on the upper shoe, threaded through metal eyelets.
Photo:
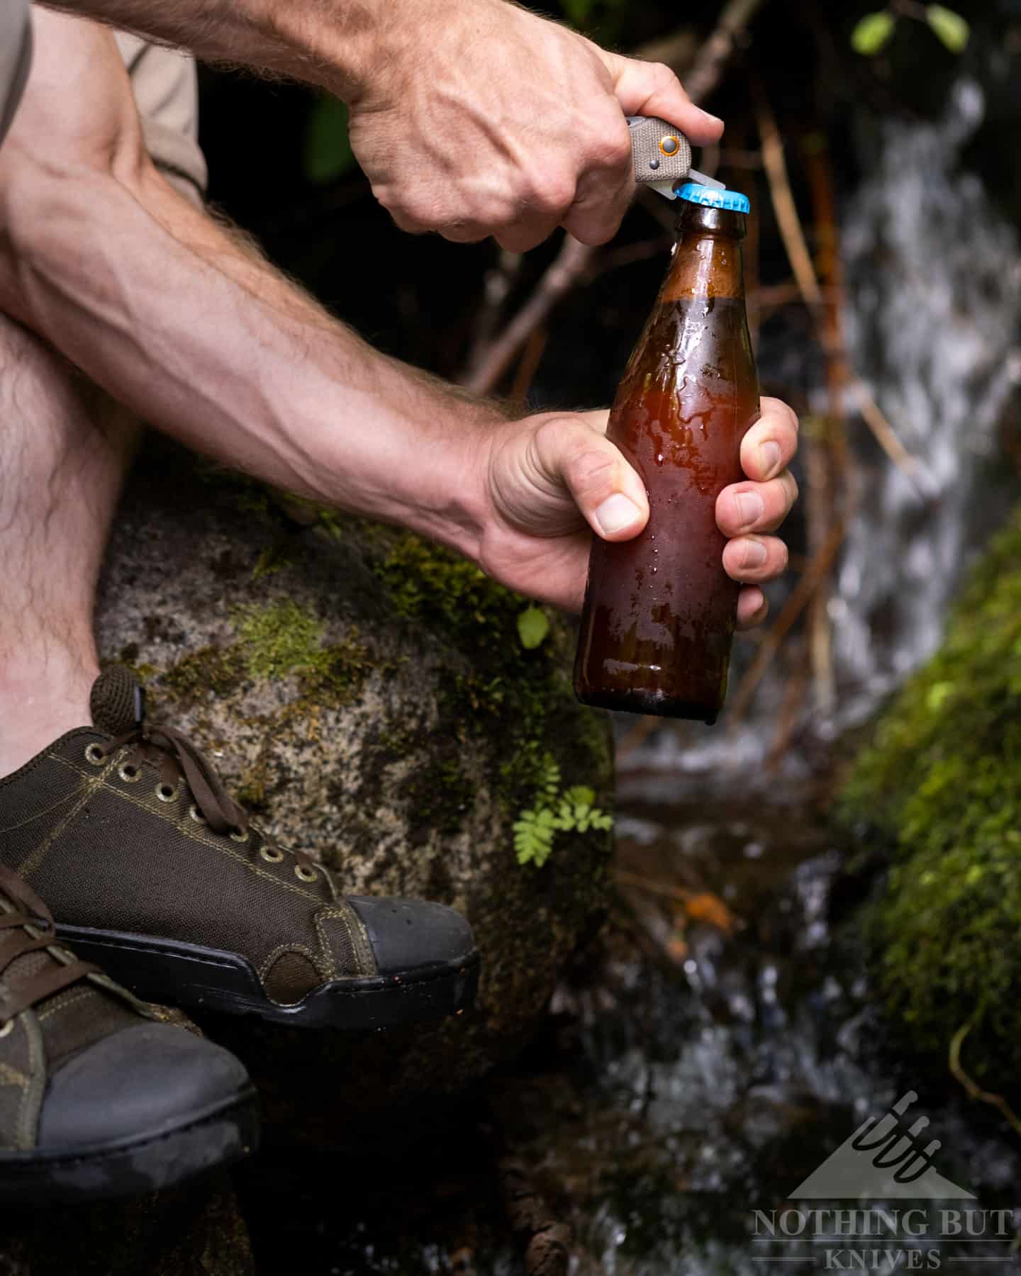
{"label": "brown lace on the upper shoe, threaded through metal eyelets", "polygon": [[[177,727],[142,721],[124,735],[98,745],[98,749],[105,758],[117,749],[126,749],[124,766],[140,767],[148,762],[158,769],[160,780],[170,789],[176,789],[177,782],[184,781],[203,819],[214,833],[223,837],[248,835],[248,812],[223,787],[212,762]],[[259,836],[273,850],[292,855],[306,873],[322,873],[320,866],[304,851],[281,846],[263,829],[259,829]]]}

